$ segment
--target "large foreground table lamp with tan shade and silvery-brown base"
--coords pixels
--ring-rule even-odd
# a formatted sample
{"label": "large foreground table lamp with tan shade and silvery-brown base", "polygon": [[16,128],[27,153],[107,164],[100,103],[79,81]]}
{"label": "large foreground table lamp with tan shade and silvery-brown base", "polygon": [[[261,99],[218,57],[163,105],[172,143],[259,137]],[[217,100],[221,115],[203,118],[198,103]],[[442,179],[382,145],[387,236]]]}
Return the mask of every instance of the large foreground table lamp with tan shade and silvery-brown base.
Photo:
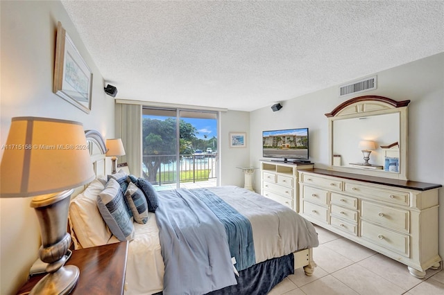
{"label": "large foreground table lamp with tan shade and silvery-brown base", "polygon": [[95,177],[82,123],[53,118],[12,118],[0,164],[0,197],[33,197],[40,224],[40,260],[46,276],[31,294],[69,294],[80,271],[65,265],[72,188]]}

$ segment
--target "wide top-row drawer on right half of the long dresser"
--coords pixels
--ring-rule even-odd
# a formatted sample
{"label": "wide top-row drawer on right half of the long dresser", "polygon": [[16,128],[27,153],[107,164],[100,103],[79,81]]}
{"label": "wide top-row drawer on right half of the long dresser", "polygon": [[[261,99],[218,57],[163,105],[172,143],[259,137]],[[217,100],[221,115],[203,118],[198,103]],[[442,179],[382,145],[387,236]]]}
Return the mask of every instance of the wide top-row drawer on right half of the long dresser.
{"label": "wide top-row drawer on right half of the long dresser", "polygon": [[345,182],[345,192],[366,195],[393,204],[409,206],[410,203],[409,193],[400,192],[398,190],[384,190],[383,188],[361,186],[359,184]]}

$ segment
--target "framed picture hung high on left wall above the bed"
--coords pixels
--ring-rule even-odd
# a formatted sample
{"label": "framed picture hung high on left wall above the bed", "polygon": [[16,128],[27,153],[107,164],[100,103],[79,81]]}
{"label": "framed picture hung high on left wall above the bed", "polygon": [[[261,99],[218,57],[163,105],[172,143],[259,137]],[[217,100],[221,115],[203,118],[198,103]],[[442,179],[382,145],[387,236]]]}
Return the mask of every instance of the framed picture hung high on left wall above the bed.
{"label": "framed picture hung high on left wall above the bed", "polygon": [[92,71],[60,21],[57,24],[53,92],[85,113],[91,111]]}

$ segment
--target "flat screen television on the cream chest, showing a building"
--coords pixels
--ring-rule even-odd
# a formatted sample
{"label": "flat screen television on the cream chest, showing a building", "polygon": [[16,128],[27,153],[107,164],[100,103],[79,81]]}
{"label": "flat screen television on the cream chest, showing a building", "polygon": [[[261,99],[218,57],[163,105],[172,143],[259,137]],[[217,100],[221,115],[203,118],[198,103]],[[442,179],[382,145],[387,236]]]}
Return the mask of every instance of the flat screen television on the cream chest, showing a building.
{"label": "flat screen television on the cream chest, showing a building", "polygon": [[262,132],[262,154],[271,161],[309,163],[308,128]]}

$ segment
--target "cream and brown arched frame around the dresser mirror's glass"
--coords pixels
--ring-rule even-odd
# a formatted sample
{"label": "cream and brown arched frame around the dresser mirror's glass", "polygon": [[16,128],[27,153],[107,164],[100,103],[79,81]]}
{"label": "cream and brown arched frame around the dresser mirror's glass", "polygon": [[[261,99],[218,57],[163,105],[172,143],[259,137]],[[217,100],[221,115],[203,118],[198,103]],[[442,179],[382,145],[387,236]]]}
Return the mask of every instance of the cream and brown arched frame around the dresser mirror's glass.
{"label": "cream and brown arched frame around the dresser mirror's glass", "polygon": [[[385,177],[391,179],[408,180],[407,178],[407,106],[410,100],[395,101],[384,96],[359,96],[347,100],[332,112],[325,114],[329,119],[329,164],[331,170],[340,172],[350,172],[359,175],[368,175],[375,177]],[[337,120],[345,120],[350,118],[367,118],[370,116],[378,116],[384,114],[399,114],[399,151],[395,150],[399,159],[398,172],[370,169],[366,167],[349,166],[345,163],[334,162],[334,123]],[[377,118],[377,117],[373,117]],[[387,126],[389,128],[389,126]],[[398,128],[398,126],[393,127]],[[344,144],[347,144],[344,142]],[[380,144],[380,143],[379,143]],[[394,143],[393,143],[394,145]],[[392,145],[386,146],[386,150],[393,148]],[[384,150],[384,152],[386,152]]]}

